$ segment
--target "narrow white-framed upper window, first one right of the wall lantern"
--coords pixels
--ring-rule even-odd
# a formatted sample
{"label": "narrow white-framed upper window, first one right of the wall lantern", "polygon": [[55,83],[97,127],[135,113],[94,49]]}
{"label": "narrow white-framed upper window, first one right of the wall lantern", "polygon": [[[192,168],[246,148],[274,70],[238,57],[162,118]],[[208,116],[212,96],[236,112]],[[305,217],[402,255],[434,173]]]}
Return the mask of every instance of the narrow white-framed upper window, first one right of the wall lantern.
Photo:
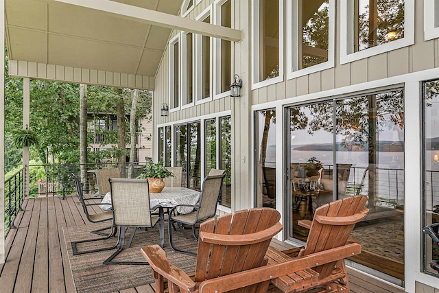
{"label": "narrow white-framed upper window, first one right of the wall lantern", "polygon": [[254,0],[253,87],[282,80],[283,1]]}

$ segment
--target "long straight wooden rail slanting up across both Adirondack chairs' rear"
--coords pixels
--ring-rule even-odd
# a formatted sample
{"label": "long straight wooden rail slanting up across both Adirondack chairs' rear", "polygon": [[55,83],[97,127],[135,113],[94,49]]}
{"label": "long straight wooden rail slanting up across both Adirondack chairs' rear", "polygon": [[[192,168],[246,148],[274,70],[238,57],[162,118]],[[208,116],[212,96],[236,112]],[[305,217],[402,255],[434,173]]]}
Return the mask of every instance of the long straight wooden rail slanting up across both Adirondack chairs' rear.
{"label": "long straight wooden rail slanting up across both Adirondack chairs' rear", "polygon": [[218,277],[203,281],[200,284],[200,293],[228,292],[248,285],[272,280],[287,274],[293,274],[306,268],[313,268],[324,263],[330,263],[346,257],[351,257],[361,253],[361,245],[357,243],[346,244],[337,248],[320,251],[292,259],[272,266],[261,266],[252,270],[245,270],[235,274]]}

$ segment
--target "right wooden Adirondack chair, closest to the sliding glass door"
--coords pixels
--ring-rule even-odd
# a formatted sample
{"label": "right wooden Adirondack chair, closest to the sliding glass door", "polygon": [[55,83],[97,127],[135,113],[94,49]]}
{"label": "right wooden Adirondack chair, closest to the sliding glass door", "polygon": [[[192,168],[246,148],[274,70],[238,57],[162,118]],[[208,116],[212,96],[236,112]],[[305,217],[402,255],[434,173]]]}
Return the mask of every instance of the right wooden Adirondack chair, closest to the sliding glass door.
{"label": "right wooden Adirondack chair, closest to the sliding glass door", "polygon": [[[359,244],[349,239],[349,235],[355,224],[366,218],[369,211],[365,206],[366,201],[366,196],[350,196],[336,200],[316,209],[312,222],[310,220],[299,221],[300,226],[310,229],[305,248],[300,250],[296,259],[270,248],[267,253],[269,264],[285,261],[286,264],[293,265],[293,263],[301,263],[309,257],[322,253],[329,253],[335,259],[325,261],[327,263],[316,261],[319,266],[309,266],[302,271],[309,274],[308,277],[301,279],[298,277],[300,273],[285,274],[275,279],[273,283],[284,292],[306,292],[315,288],[321,289],[316,291],[319,293],[349,292],[344,258],[359,253],[357,251]],[[349,255],[350,249],[352,249],[351,255]],[[337,255],[335,253],[337,250],[348,253]]]}

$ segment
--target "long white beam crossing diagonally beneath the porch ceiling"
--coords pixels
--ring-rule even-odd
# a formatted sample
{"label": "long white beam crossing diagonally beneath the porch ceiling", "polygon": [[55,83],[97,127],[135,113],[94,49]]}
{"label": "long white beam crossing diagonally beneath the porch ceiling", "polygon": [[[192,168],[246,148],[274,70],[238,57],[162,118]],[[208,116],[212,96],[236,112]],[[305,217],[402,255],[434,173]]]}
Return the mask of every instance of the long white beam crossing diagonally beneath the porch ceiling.
{"label": "long white beam crossing diagonally beneath the porch ceiling", "polygon": [[[50,1],[50,0],[46,0]],[[127,18],[130,20],[157,25],[159,27],[167,27],[174,30],[185,32],[193,32],[194,34],[202,34],[203,36],[211,36],[213,38],[221,38],[232,42],[239,42],[242,39],[240,30],[222,27],[221,25],[212,25],[203,23],[202,21],[194,21],[193,19],[185,19],[184,17],[139,8],[133,5],[127,5],[110,0],[52,0],[71,5],[77,5],[84,8],[100,10],[115,14],[116,16]]]}

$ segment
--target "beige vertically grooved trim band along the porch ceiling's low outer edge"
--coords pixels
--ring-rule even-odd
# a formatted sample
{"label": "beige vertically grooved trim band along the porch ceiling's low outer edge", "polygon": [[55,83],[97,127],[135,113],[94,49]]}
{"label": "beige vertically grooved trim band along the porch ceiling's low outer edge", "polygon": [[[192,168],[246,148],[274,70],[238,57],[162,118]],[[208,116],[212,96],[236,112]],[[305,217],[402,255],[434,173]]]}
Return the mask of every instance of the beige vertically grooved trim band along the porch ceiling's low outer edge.
{"label": "beige vertically grooved trim band along the porch ceiling's low outer edge", "polygon": [[39,80],[56,80],[59,82],[117,86],[150,91],[154,91],[155,89],[155,78],[150,76],[67,67],[62,65],[48,65],[45,63],[22,60],[9,61],[9,74],[20,78],[35,78]]}

